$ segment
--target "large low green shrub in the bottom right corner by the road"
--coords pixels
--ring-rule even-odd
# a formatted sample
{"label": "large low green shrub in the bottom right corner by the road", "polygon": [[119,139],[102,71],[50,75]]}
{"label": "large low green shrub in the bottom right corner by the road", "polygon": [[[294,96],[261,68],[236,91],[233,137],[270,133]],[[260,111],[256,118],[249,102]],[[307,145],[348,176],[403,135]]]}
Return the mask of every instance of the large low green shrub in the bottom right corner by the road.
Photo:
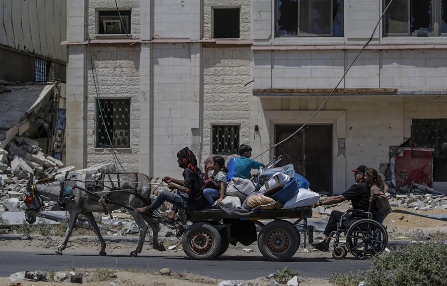
{"label": "large low green shrub in the bottom right corner by the road", "polygon": [[446,286],[447,243],[426,242],[398,246],[371,260],[371,270],[333,274],[330,283],[340,286]]}

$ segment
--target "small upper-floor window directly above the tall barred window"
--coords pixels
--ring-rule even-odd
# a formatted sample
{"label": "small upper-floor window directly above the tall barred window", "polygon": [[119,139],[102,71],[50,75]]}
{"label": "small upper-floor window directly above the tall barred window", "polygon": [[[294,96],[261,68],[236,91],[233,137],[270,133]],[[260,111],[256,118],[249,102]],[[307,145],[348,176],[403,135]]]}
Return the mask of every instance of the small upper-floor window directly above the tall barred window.
{"label": "small upper-floor window directly above the tall barred window", "polygon": [[131,10],[120,10],[119,13],[117,10],[101,10],[98,11],[98,18],[98,34],[131,33]]}

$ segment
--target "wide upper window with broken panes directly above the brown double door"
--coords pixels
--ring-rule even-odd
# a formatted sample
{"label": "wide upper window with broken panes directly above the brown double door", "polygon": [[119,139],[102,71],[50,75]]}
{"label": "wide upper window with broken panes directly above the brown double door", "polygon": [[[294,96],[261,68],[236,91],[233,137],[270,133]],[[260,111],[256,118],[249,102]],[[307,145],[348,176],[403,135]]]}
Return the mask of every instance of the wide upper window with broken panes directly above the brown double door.
{"label": "wide upper window with broken panes directly above the brown double door", "polygon": [[276,0],[277,36],[343,37],[343,0]]}

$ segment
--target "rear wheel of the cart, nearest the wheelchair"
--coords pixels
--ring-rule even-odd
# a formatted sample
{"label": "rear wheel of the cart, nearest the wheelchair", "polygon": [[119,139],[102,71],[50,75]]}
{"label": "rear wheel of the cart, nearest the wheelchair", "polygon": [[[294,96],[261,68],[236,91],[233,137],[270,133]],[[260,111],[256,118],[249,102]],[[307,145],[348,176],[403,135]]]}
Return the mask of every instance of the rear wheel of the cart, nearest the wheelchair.
{"label": "rear wheel of the cart, nearest the wheelchair", "polygon": [[287,221],[274,221],[259,232],[258,248],[268,260],[284,261],[297,252],[300,243],[298,229]]}

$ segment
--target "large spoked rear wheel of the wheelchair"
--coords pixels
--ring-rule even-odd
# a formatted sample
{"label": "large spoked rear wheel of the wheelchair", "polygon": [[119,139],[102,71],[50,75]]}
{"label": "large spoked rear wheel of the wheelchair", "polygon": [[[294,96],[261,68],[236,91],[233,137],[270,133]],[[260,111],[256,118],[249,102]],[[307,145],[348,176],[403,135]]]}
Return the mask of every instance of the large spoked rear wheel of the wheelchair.
{"label": "large spoked rear wheel of the wheelchair", "polygon": [[370,219],[355,222],[346,234],[349,251],[359,259],[373,258],[385,250],[388,233],[376,221]]}

